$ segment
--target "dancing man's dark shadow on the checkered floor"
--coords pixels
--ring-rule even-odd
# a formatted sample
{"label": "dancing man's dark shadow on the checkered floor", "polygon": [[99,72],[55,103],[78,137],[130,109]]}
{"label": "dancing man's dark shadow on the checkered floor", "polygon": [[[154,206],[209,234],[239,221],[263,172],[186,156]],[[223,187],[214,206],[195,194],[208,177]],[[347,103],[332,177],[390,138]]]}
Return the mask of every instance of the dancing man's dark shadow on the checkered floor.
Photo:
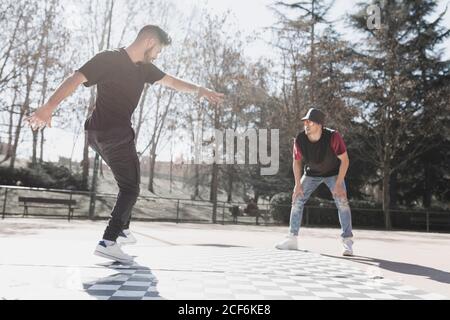
{"label": "dancing man's dark shadow on the checkered floor", "polygon": [[158,280],[148,267],[107,262],[99,266],[117,273],[83,283],[84,290],[98,300],[163,300],[157,290]]}

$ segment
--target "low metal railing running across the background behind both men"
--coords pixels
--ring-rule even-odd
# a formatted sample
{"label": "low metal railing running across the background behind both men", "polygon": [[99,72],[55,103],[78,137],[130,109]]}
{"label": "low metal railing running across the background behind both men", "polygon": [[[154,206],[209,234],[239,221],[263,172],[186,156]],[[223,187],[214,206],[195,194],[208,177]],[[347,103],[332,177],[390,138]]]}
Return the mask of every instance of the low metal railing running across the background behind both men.
{"label": "low metal railing running across the background behind both men", "polygon": [[[23,192],[37,192],[37,193],[51,193],[51,194],[61,194],[67,195],[70,199],[78,196],[81,202],[81,208],[77,208],[78,215],[75,218],[86,218],[86,219],[102,219],[109,217],[109,211],[111,205],[115,202],[117,198],[116,194],[107,193],[91,193],[87,191],[75,191],[75,190],[59,190],[59,189],[44,189],[44,188],[29,188],[29,187],[18,187],[18,186],[5,186],[0,185],[0,192],[4,190],[3,193],[3,206],[2,206],[2,219],[5,219],[7,215],[15,216],[21,215],[18,212],[9,212],[8,204],[13,209],[17,207],[14,201],[8,201],[8,195],[11,193],[23,193]],[[11,196],[10,196],[11,198]],[[97,209],[94,216],[89,215],[89,202],[93,201],[101,202],[107,208]],[[221,224],[261,224],[261,225],[285,225],[281,220],[275,220],[272,216],[272,209],[274,206],[279,208],[286,208],[286,215],[289,215],[291,205],[271,205],[271,204],[258,204],[259,209],[256,215],[245,216],[242,215],[242,210],[237,216],[233,216],[231,208],[233,206],[246,206],[247,203],[243,202],[225,202],[217,201],[214,204],[208,200],[191,200],[182,198],[170,198],[170,197],[160,197],[160,196],[139,196],[138,203],[147,205],[148,202],[152,202],[151,206],[145,206],[144,208],[139,208],[137,205],[134,211],[138,211],[138,214],[133,214],[133,217],[137,220],[148,220],[148,221],[174,221],[176,223],[180,222],[199,222],[199,223],[221,223]],[[88,205],[89,204],[89,205]],[[85,206],[83,210],[82,206]],[[158,208],[158,205],[160,206]],[[352,218],[353,225],[364,226],[368,228],[384,229],[384,216],[381,209],[370,209],[370,208],[357,208],[351,205],[352,208]],[[156,207],[156,209],[154,208]],[[97,207],[98,208],[98,207]],[[216,209],[215,217],[213,218],[213,211]],[[49,207],[50,209],[50,207]],[[193,210],[189,213],[189,209]],[[153,214],[151,211],[154,211]],[[281,209],[283,210],[283,209]],[[156,213],[155,213],[156,211]],[[408,226],[406,230],[411,230],[412,226],[421,227],[423,231],[430,232],[431,227],[435,229],[437,226],[445,232],[450,232],[450,212],[448,211],[431,211],[431,210],[398,210],[391,209],[392,218],[394,221],[399,220],[399,225],[403,224]],[[80,214],[81,212],[81,214]],[[313,206],[306,205],[304,210],[303,225],[305,226],[338,226],[339,222],[337,220],[336,207],[333,206]],[[56,216],[60,217],[61,214],[51,215],[51,214],[31,214],[32,216]],[[362,216],[366,216],[366,220],[369,222],[364,225],[364,223],[359,223]],[[403,219],[404,222],[401,222]],[[370,222],[372,221],[372,222]],[[400,228],[401,229],[401,228]],[[415,230],[415,229],[414,229]]]}

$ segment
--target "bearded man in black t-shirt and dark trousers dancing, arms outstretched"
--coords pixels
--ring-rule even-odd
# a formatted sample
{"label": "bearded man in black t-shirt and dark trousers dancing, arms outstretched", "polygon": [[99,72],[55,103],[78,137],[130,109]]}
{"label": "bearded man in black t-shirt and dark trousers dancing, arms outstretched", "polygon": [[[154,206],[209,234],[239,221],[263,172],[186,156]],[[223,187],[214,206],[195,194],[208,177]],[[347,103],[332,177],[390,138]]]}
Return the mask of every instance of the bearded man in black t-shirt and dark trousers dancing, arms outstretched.
{"label": "bearded man in black t-shirt and dark trousers dancing, arms outstretched", "polygon": [[163,47],[170,45],[168,34],[158,26],[141,29],[136,40],[126,48],[98,53],[66,79],[47,103],[26,120],[33,130],[49,126],[54,110],[80,84],[97,86],[95,108],[85,122],[88,143],[111,168],[119,194],[103,239],[95,254],[123,263],[133,258],[124,253],[119,243],[131,244],[136,239],[129,231],[131,210],[139,195],[140,168],[131,126],[146,83],[161,84],[174,90],[195,93],[211,103],[223,100],[223,94],[168,75],[153,61]]}

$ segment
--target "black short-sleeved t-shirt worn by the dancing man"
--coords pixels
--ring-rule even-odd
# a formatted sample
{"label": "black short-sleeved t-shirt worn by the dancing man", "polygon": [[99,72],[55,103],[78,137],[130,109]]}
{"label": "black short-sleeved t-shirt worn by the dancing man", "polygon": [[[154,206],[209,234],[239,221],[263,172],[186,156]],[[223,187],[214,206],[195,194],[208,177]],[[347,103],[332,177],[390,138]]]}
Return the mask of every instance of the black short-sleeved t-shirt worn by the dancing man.
{"label": "black short-sleeved t-shirt worn by the dancing man", "polygon": [[131,128],[145,83],[153,84],[166,74],[153,64],[134,63],[125,49],[98,53],[78,69],[86,87],[97,85],[95,108],[85,122],[85,130]]}

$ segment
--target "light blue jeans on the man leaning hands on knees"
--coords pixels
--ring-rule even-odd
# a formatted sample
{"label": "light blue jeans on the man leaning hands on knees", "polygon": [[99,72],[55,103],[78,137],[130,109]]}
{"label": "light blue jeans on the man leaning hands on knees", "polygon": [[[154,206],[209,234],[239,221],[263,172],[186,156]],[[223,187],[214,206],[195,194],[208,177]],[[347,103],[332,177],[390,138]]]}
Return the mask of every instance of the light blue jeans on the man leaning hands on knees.
{"label": "light blue jeans on the man leaning hands on knees", "polygon": [[[303,187],[303,196],[298,196],[295,199],[295,202],[292,204],[291,210],[291,220],[290,220],[290,233],[298,236],[300,231],[300,224],[303,217],[303,208],[305,203],[308,201],[311,194],[314,190],[319,187],[321,183],[325,183],[328,189],[333,190],[336,185],[337,176],[333,177],[308,177],[303,176],[301,183]],[[343,187],[347,190],[345,183],[343,183]],[[353,237],[352,233],[352,214],[350,211],[350,206],[348,204],[347,197],[345,198],[337,198],[333,195],[334,202],[336,203],[336,207],[338,209],[339,214],[339,222],[341,224],[341,237],[342,238],[350,238]]]}

